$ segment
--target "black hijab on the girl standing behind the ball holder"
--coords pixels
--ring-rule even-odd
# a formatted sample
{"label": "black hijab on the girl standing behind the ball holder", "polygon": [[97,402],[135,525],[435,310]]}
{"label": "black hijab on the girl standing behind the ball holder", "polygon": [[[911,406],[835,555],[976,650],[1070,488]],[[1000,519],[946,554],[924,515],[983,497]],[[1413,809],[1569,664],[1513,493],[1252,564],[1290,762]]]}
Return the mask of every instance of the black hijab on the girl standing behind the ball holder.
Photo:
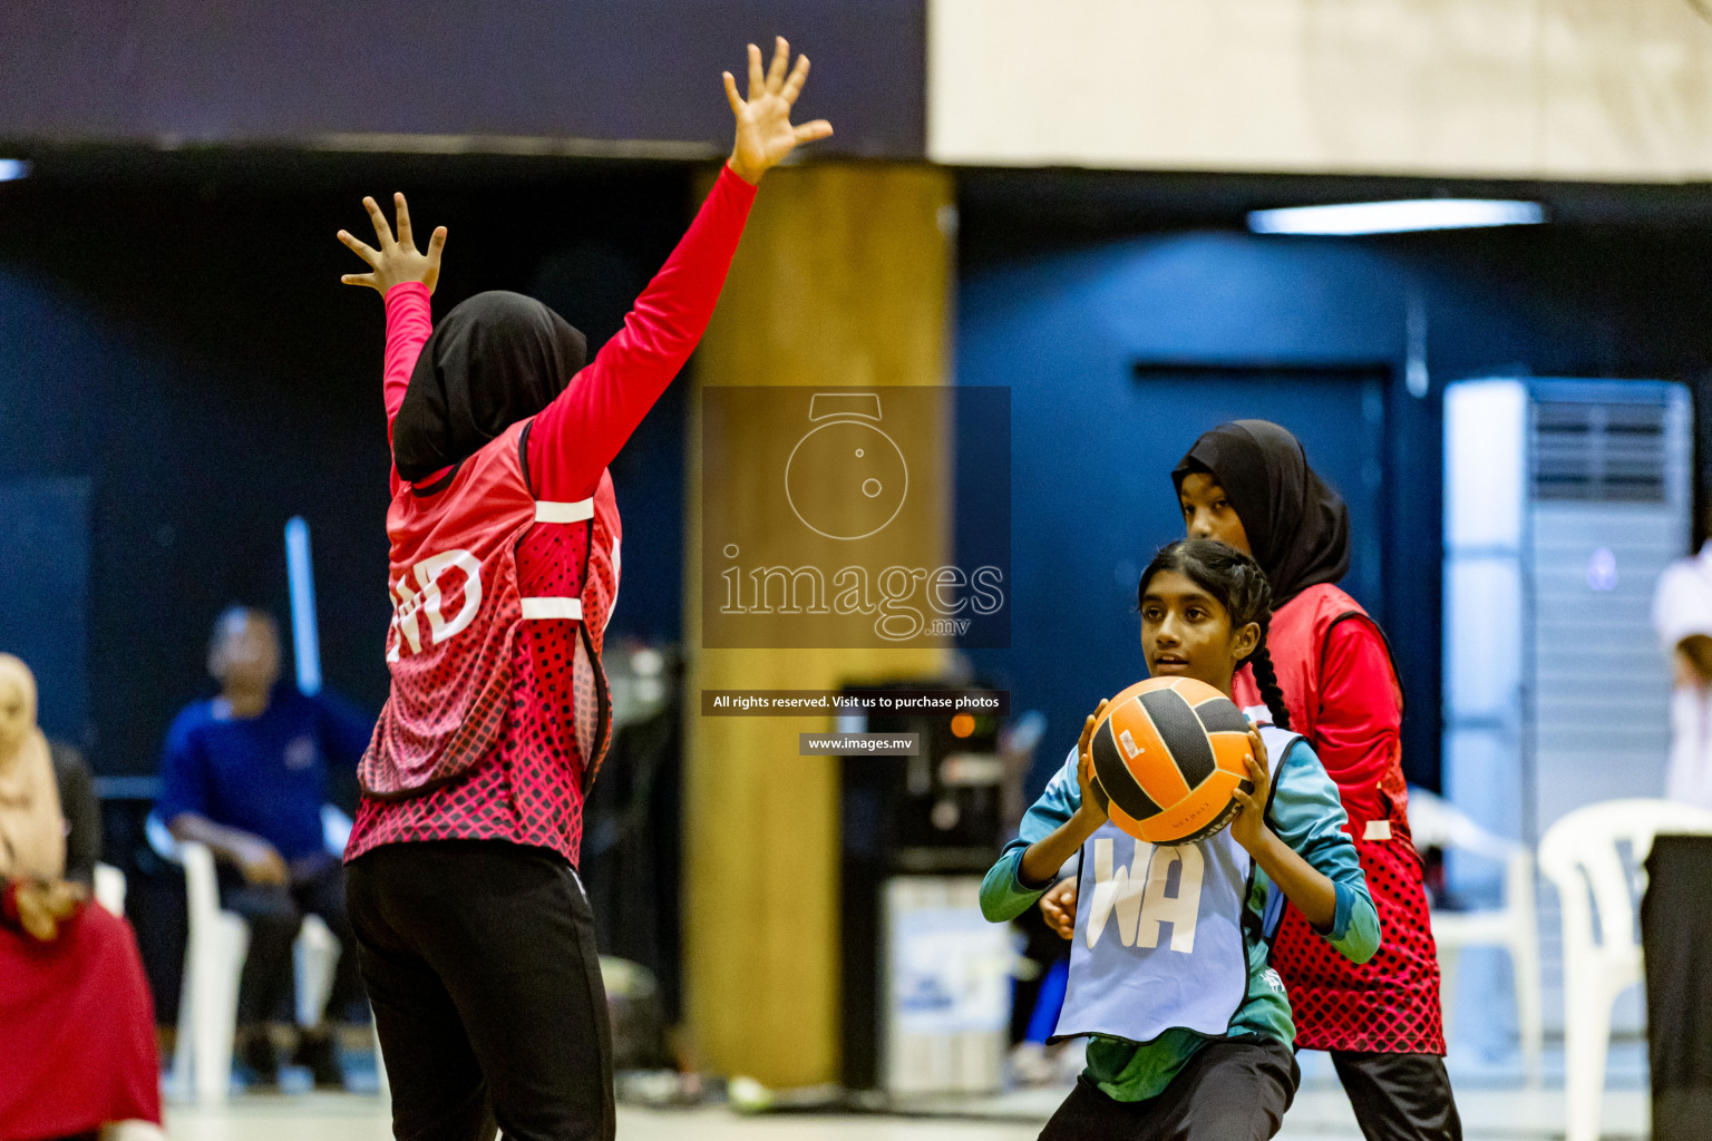
{"label": "black hijab on the girl standing behind the ball holder", "polygon": [[1195,441],[1171,482],[1181,493],[1183,477],[1197,470],[1212,474],[1243,520],[1274,607],[1349,570],[1349,508],[1308,467],[1289,429],[1263,419],[1219,424]]}

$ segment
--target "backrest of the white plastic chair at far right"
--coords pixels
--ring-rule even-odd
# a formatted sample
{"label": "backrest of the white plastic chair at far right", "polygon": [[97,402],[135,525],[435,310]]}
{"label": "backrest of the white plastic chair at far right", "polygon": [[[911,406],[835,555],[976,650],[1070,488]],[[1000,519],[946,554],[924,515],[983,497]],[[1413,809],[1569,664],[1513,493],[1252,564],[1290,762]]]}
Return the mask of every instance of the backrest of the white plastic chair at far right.
{"label": "backrest of the white plastic chair at far right", "polygon": [[1628,842],[1632,859],[1644,864],[1661,831],[1712,835],[1712,813],[1674,801],[1606,801],[1546,830],[1539,867],[1558,888],[1566,939],[1585,932],[1608,951],[1635,948],[1635,898],[1618,845]]}

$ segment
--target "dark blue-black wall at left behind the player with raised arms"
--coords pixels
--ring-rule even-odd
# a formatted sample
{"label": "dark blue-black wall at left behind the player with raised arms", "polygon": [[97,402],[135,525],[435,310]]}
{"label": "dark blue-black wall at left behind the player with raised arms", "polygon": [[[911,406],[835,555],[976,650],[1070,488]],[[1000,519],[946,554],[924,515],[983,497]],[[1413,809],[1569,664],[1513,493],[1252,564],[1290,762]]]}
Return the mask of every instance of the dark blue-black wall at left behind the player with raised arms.
{"label": "dark blue-black wall at left behind the player with raised arms", "polygon": [[[0,185],[0,484],[91,489],[87,621],[67,606],[9,623],[86,647],[87,703],[45,693],[43,712],[98,772],[154,772],[173,713],[209,691],[223,606],[284,619],[291,515],[312,527],[327,684],[370,710],[385,698],[383,316],[373,291],[339,284],[358,263],[334,239],[363,231],[363,193],[402,188],[418,226],[450,228],[437,313],[520,289],[591,347],[692,205],[676,166],[226,163]],[[669,395],[613,464],[627,532],[613,636],[678,636],[681,435]]]}

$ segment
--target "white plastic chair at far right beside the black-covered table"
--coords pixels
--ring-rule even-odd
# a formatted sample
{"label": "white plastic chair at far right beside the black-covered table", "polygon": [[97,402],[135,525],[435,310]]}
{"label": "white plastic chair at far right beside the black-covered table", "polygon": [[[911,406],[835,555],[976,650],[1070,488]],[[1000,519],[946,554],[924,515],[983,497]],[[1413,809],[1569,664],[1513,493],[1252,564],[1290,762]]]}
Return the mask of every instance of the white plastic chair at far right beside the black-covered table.
{"label": "white plastic chair at far right beside the black-covered table", "polygon": [[[1563,913],[1566,1141],[1597,1141],[1611,1006],[1642,982],[1635,891],[1618,845],[1642,864],[1659,833],[1712,835],[1712,813],[1673,801],[1608,801],[1568,813],[1539,842]],[[1644,872],[1642,872],[1644,874]]]}

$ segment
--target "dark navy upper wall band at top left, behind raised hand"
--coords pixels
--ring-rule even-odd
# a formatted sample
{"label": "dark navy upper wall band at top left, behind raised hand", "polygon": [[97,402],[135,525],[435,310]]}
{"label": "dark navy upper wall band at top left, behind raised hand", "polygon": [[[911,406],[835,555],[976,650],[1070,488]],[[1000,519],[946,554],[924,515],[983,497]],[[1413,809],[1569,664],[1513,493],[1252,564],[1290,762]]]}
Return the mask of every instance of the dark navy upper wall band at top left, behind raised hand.
{"label": "dark navy upper wall band at top left, behind raised hand", "polygon": [[56,0],[0,5],[0,139],[341,133],[731,145],[719,72],[786,36],[820,154],[919,157],[923,0]]}

